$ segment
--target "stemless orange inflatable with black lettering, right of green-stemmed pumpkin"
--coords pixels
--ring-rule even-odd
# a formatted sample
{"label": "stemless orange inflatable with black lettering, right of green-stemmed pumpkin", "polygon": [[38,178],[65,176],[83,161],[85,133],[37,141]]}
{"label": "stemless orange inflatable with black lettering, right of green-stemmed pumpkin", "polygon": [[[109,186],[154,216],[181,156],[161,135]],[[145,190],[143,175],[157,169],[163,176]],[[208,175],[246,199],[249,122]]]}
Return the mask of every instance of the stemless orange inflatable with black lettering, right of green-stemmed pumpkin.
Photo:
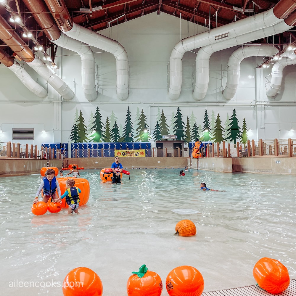
{"label": "stemless orange inflatable with black lettering, right of green-stemmed pumpkin", "polygon": [[185,265],[170,271],[165,286],[170,296],[200,296],[205,282],[196,268]]}

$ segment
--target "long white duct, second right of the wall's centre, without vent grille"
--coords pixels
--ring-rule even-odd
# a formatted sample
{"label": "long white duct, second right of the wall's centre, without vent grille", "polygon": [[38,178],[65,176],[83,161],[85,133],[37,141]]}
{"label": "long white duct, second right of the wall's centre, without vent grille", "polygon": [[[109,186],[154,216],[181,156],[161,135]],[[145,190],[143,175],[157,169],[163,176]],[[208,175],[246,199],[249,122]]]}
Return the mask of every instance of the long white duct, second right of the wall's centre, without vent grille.
{"label": "long white duct, second right of the wall's centre, without vent grille", "polygon": [[203,99],[207,93],[210,76],[210,56],[213,54],[213,52],[244,44],[252,40],[257,40],[263,37],[282,33],[288,29],[293,28],[295,23],[296,13],[293,12],[285,20],[282,20],[274,26],[264,28],[263,30],[259,30],[256,32],[249,32],[235,38],[231,38],[216,44],[210,44],[200,48],[196,56],[196,82],[193,91],[193,98],[199,101]]}

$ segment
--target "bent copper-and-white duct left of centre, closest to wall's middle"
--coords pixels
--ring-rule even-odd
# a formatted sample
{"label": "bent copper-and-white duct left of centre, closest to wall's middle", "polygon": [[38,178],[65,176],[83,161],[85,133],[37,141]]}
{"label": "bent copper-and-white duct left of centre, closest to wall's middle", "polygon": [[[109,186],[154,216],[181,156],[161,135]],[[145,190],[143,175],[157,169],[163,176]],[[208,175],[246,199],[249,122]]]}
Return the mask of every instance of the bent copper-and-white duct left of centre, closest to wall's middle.
{"label": "bent copper-and-white duct left of centre, closest to wall's middle", "polygon": [[[296,0],[295,0],[296,1]],[[110,52],[116,59],[116,93],[121,100],[128,98],[129,66],[124,47],[117,41],[83,28],[72,22],[63,0],[45,0],[59,28],[69,37]]]}

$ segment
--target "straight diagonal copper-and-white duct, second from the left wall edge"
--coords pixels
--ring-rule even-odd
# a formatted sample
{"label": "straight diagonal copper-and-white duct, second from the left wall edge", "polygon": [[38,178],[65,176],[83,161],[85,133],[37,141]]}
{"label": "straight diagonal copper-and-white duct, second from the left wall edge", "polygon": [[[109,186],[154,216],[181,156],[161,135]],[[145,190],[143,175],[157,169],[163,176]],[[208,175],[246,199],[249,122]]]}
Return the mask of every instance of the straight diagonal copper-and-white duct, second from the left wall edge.
{"label": "straight diagonal copper-and-white duct, second from the left wall edge", "polygon": [[28,45],[15,33],[0,16],[0,39],[2,39],[24,62],[46,80],[65,100],[73,99],[74,93],[41,59],[35,57]]}

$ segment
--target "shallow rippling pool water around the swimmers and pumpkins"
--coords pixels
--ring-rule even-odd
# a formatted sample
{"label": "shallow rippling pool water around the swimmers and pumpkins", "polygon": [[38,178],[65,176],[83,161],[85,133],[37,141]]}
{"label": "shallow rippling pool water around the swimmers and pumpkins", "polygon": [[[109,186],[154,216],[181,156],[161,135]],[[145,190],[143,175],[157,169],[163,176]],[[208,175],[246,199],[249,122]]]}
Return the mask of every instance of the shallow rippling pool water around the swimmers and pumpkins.
{"label": "shallow rippling pool water around the swimmers and pumpkins", "polygon": [[[176,266],[194,266],[205,291],[255,284],[252,269],[262,257],[280,260],[296,277],[295,176],[179,172],[131,170],[115,185],[102,183],[99,170],[81,171],[91,192],[81,215],[34,216],[40,176],[1,178],[2,294],[62,295],[59,285],[79,266],[99,274],[104,296],[126,295],[142,264],[163,281]],[[200,182],[226,192],[203,192]],[[182,219],[195,223],[196,236],[174,235]]]}

